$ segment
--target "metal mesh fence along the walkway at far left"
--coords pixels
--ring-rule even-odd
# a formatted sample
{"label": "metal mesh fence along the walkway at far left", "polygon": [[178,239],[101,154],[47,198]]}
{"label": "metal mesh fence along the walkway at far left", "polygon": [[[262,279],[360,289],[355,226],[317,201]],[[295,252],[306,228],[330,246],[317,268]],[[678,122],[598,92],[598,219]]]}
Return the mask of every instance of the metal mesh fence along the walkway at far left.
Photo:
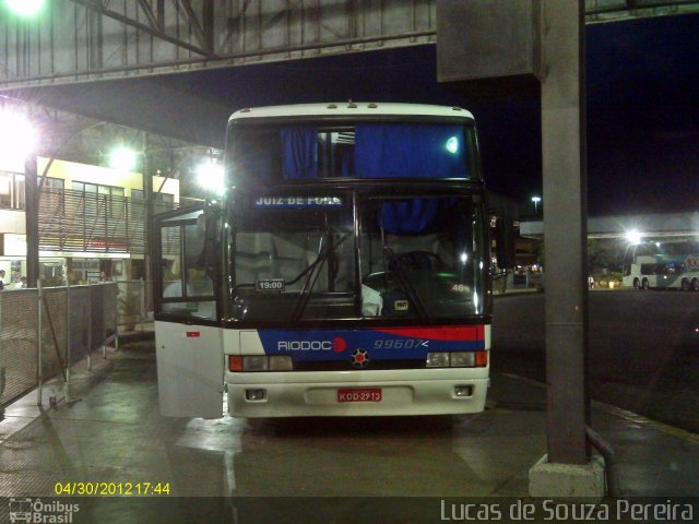
{"label": "metal mesh fence along the walkway at far left", "polygon": [[4,407],[49,379],[70,384],[70,368],[117,343],[116,283],[0,293],[0,418]]}

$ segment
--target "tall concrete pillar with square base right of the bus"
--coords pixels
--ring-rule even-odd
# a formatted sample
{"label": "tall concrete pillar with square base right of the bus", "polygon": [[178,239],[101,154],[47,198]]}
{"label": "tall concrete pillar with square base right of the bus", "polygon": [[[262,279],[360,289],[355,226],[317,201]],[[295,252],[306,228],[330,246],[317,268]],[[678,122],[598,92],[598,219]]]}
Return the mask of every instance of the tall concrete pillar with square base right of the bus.
{"label": "tall concrete pillar with square base right of the bus", "polygon": [[538,497],[603,497],[585,426],[587,165],[584,1],[543,0],[542,147],[548,454],[530,472]]}

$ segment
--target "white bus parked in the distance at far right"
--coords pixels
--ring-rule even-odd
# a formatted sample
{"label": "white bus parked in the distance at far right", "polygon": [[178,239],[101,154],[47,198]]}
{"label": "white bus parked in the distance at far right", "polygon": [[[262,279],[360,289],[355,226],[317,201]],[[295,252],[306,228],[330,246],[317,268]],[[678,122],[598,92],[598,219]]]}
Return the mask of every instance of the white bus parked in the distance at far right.
{"label": "white bus parked in the distance at far right", "polygon": [[699,246],[691,241],[644,242],[628,250],[624,287],[699,290]]}

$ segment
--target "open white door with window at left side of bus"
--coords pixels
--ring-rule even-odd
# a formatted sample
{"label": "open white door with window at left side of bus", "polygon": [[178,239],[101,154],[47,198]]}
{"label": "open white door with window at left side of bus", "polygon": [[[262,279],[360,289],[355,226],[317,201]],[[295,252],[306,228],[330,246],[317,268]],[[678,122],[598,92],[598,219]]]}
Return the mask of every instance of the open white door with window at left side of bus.
{"label": "open white door with window at left side of bus", "polygon": [[203,209],[153,219],[153,294],[161,414],[218,418],[223,414],[220,288],[206,250],[217,241]]}

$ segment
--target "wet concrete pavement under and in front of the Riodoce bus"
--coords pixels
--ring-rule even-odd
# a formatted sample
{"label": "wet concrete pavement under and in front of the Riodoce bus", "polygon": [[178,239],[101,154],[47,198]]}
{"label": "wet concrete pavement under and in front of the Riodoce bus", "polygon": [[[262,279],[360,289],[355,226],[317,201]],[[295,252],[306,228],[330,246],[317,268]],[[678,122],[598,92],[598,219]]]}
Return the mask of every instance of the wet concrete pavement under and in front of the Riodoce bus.
{"label": "wet concrete pavement under and in front of the Riodoce bus", "polygon": [[[0,497],[150,483],[167,485],[170,498],[525,498],[529,469],[546,451],[545,389],[509,374],[493,377],[488,408],[474,416],[250,421],[161,417],[152,342],[72,377],[75,402],[38,410],[31,394],[8,409]],[[597,403],[592,426],[615,450],[619,495],[699,497],[698,436]],[[103,515],[99,499],[90,503]],[[94,522],[128,522],[104,511]]]}

